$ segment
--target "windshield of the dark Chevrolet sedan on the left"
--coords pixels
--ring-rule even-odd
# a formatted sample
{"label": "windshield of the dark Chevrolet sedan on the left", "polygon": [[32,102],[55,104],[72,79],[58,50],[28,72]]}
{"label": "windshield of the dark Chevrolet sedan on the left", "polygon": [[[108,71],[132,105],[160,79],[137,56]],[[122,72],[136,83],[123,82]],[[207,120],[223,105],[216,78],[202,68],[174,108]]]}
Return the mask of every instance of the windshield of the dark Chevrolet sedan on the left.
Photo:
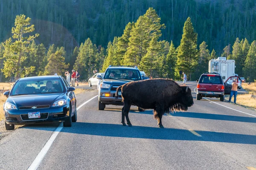
{"label": "windshield of the dark Chevrolet sedan on the left", "polygon": [[61,79],[20,80],[12,88],[11,96],[26,94],[61,93],[64,86]]}

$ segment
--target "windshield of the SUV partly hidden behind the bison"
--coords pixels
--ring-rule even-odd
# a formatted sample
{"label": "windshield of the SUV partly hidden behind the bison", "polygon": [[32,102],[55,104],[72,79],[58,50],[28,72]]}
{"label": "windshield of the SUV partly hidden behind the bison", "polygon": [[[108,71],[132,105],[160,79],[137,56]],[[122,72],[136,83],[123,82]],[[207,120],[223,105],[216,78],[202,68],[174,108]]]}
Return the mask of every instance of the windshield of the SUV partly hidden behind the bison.
{"label": "windshield of the SUV partly hidden behind the bison", "polygon": [[104,78],[140,80],[140,74],[139,71],[131,69],[108,69]]}

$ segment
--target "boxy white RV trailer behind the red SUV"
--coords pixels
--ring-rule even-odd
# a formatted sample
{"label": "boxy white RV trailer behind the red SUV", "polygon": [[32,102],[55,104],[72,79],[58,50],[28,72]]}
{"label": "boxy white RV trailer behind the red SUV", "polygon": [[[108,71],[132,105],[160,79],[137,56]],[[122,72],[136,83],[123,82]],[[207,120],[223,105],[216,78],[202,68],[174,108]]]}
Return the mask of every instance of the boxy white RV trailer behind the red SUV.
{"label": "boxy white RV trailer behind the red SUV", "polygon": [[230,76],[235,76],[235,60],[226,59],[226,57],[218,57],[209,61],[209,73],[218,73],[222,76],[223,81]]}

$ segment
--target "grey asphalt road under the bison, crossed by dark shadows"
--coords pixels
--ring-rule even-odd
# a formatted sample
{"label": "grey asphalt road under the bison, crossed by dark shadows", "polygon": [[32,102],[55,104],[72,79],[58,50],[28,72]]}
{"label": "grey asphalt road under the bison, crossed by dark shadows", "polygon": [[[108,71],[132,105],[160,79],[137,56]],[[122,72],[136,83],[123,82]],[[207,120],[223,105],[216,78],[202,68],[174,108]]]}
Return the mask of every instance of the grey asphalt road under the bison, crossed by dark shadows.
{"label": "grey asphalt road under the bison, crossed by dark shadows", "polygon": [[[253,170],[256,168],[256,112],[218,99],[195,99],[187,112],[163,116],[132,107],[133,127],[121,125],[121,106],[97,110],[97,97],[78,111],[72,127],[25,125],[0,140],[0,169],[25,170],[62,128],[39,161],[39,170]],[[78,106],[97,95],[77,97]]]}

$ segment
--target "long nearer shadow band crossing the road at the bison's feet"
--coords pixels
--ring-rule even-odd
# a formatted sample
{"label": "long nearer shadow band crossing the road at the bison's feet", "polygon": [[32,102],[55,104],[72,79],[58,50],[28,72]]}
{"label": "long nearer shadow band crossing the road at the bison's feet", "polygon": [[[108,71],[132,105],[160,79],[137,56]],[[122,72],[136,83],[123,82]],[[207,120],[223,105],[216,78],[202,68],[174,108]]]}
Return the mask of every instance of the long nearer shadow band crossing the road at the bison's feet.
{"label": "long nearer shadow band crossing the road at the bison's feet", "polygon": [[61,133],[77,133],[96,136],[112,136],[139,139],[163,139],[183,141],[208,141],[239,144],[256,144],[256,136],[236,133],[221,133],[211,131],[196,131],[201,135],[195,136],[189,130],[159,127],[133,126],[123,127],[117,124],[101,124],[76,122],[71,128],[64,127]]}

